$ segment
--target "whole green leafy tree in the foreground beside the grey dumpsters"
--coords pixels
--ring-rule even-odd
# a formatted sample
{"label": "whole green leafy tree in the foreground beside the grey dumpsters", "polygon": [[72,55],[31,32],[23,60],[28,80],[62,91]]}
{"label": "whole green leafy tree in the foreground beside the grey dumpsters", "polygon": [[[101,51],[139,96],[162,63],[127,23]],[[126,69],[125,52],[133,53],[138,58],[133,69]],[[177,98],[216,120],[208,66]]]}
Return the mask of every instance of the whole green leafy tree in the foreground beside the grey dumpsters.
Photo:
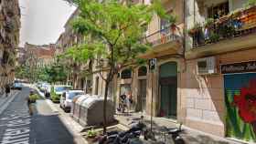
{"label": "whole green leafy tree in the foreground beside the grey dumpsters", "polygon": [[168,18],[160,1],[152,5],[120,3],[119,0],[73,0],[80,9],[80,16],[73,21],[73,29],[91,40],[69,49],[69,54],[81,61],[95,59],[107,69],[103,104],[103,133],[106,132],[106,103],[109,84],[121,67],[134,64],[138,55],[150,45],[142,42],[144,29],[153,15]]}

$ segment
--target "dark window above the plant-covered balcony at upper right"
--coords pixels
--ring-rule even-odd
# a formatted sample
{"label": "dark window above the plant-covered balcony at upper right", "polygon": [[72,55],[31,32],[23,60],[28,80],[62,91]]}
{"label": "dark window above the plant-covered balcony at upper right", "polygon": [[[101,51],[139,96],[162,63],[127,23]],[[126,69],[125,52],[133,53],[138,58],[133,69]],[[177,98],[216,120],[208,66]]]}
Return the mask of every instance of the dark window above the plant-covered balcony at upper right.
{"label": "dark window above the plant-covered balcony at upper right", "polygon": [[218,19],[229,14],[229,2],[208,7],[208,17]]}

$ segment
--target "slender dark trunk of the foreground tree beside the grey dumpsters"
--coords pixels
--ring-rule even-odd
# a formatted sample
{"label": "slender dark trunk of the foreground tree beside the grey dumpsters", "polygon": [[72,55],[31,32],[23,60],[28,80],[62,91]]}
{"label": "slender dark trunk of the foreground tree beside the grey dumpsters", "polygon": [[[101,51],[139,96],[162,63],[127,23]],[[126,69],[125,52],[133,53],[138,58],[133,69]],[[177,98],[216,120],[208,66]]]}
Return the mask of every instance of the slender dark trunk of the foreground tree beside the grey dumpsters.
{"label": "slender dark trunk of the foreground tree beside the grey dumpsters", "polygon": [[[107,78],[109,79],[109,78]],[[107,80],[105,83],[104,103],[103,103],[103,135],[107,132],[107,98],[110,81]]]}

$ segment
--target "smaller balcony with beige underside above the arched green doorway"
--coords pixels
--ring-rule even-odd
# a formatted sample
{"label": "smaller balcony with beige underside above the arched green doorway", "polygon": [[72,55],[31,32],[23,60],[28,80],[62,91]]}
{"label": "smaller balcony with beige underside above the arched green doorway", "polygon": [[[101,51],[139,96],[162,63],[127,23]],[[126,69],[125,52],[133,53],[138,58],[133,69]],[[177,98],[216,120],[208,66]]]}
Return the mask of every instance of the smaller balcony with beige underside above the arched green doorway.
{"label": "smaller balcony with beige underside above the arched green doorway", "polygon": [[139,57],[153,58],[177,54],[182,46],[181,30],[177,26],[166,26],[165,29],[145,36],[142,42],[151,44],[152,48]]}

